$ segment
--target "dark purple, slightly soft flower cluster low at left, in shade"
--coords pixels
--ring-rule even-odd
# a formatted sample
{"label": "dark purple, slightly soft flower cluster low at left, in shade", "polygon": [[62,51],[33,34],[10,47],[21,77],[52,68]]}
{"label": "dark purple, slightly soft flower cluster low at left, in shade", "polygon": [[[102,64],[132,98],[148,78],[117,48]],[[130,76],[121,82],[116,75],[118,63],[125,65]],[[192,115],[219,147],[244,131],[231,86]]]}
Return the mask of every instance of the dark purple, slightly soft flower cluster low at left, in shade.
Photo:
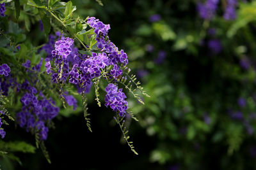
{"label": "dark purple, slightly soft flower cluster low at left, in shade", "polygon": [[40,139],[45,140],[49,131],[46,124],[58,115],[59,108],[51,98],[46,99],[42,92],[31,87],[28,81],[22,83],[21,87],[27,92],[20,99],[22,111],[17,113],[17,121],[20,127],[38,133]]}

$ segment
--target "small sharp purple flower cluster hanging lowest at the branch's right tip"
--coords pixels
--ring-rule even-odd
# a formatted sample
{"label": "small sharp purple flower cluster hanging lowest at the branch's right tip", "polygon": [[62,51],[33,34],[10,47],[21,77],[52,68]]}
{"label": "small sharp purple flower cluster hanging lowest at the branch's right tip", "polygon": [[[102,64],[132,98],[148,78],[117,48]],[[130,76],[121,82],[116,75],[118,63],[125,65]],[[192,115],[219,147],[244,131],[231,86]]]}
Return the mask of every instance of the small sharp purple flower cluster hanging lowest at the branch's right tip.
{"label": "small sharp purple flower cluster hanging lowest at the branch's right tip", "polygon": [[118,87],[113,83],[110,83],[106,87],[105,106],[110,106],[113,111],[119,113],[120,117],[124,117],[126,110],[128,109],[128,103],[125,101],[125,94],[122,89],[118,90]]}

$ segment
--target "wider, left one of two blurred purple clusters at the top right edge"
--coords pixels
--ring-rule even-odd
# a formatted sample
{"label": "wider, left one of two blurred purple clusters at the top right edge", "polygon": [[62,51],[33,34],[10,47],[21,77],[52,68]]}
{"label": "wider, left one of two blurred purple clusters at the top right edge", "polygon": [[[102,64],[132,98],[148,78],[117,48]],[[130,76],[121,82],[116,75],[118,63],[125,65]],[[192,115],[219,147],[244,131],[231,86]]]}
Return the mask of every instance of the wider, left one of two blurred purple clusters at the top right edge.
{"label": "wider, left one of two blurred purple clusters at the top right edge", "polygon": [[206,0],[205,3],[198,3],[197,10],[201,18],[205,20],[212,20],[216,13],[219,0]]}

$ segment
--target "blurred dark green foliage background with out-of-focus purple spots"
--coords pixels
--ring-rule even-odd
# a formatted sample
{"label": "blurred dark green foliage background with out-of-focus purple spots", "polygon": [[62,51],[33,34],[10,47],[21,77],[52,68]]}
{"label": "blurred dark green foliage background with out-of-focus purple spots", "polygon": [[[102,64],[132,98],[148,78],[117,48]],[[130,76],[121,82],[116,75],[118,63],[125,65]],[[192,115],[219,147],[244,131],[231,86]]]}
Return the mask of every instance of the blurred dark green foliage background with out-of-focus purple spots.
{"label": "blurred dark green foliage background with out-of-focus purple spots", "polygon": [[223,18],[225,0],[212,20],[200,18],[192,0],[72,3],[77,15],[111,25],[109,38],[151,96],[145,105],[128,97],[139,155],[122,141],[113,113],[88,97],[93,133],[81,106],[61,110],[45,143],[52,164],[37,150],[17,153],[22,166],[1,160],[3,169],[256,169],[255,1],[239,1],[236,20]]}

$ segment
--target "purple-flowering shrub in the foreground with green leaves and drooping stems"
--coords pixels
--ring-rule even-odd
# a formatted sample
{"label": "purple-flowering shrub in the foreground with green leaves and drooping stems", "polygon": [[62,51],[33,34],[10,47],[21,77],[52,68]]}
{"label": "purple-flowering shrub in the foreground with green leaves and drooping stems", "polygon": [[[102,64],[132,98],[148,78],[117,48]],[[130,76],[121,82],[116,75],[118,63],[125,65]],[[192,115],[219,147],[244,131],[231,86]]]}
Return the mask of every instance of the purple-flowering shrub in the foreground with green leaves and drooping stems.
{"label": "purple-flowering shrub in the foreground with green leaves and drooping stems", "polygon": [[[0,47],[1,118],[6,115],[20,127],[26,127],[26,131],[35,135],[36,146],[42,148],[49,160],[44,141],[49,129],[54,127],[52,119],[60,111],[58,100],[61,100],[63,108],[68,104],[76,110],[77,100],[72,93],[80,96],[86,125],[92,131],[86,107],[87,94],[93,86],[95,100],[101,106],[99,90],[104,87],[105,106],[116,113],[114,118],[122,129],[125,141],[132,152],[138,154],[132,142],[128,141],[128,131],[124,127],[127,115],[137,119],[129,111],[125,100],[127,97],[121,87],[129,90],[142,104],[143,100],[137,92],[149,96],[136,77],[130,74],[127,54],[110,41],[110,25],[103,24],[95,17],[73,17],[76,6],[71,1],[1,1],[0,9],[0,36],[4,39]],[[8,10],[14,9],[18,24],[12,21],[8,23],[8,19],[13,20]],[[47,44],[33,46],[33,41],[29,43],[26,39],[26,34],[19,27],[23,20],[19,18],[28,15],[33,16],[30,20],[40,23],[40,30],[49,36]],[[25,19],[24,22],[29,30],[28,21]],[[4,100],[10,96],[15,96],[14,102],[20,104],[15,114],[9,114],[4,108]],[[8,107],[11,106],[12,103]],[[5,121],[3,123],[7,124]],[[2,128],[0,135],[2,138],[6,135]]]}

